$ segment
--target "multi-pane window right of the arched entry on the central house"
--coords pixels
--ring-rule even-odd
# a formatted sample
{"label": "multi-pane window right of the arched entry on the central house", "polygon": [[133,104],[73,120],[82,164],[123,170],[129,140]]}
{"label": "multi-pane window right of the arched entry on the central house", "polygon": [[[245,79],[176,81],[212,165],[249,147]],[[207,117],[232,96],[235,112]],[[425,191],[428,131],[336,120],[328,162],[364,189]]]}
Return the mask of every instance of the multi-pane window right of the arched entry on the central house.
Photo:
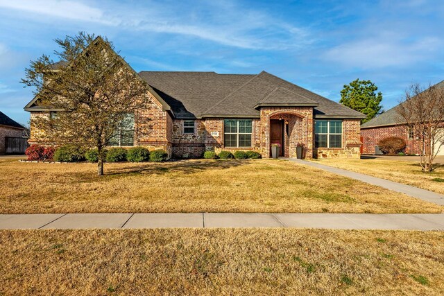
{"label": "multi-pane window right of the arched entry on the central house", "polygon": [[342,121],[317,120],[314,123],[314,146],[316,148],[341,148]]}

